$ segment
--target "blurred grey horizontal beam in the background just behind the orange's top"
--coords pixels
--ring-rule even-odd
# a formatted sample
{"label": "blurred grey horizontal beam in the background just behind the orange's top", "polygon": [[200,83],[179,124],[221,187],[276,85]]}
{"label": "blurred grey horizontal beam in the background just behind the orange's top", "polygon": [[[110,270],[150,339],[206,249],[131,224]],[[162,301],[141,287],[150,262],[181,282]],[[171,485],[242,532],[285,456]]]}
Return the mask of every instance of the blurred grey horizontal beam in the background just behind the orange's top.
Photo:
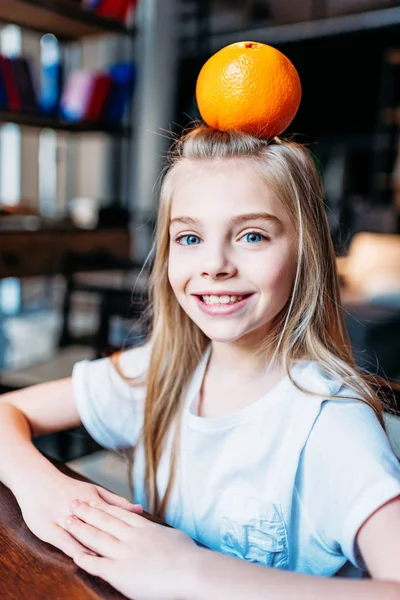
{"label": "blurred grey horizontal beam in the background just behind the orange's top", "polygon": [[400,8],[386,8],[353,15],[330,17],[254,29],[212,33],[209,47],[215,52],[233,42],[254,40],[266,44],[288,44],[307,40],[334,38],[367,31],[390,30],[400,26]]}

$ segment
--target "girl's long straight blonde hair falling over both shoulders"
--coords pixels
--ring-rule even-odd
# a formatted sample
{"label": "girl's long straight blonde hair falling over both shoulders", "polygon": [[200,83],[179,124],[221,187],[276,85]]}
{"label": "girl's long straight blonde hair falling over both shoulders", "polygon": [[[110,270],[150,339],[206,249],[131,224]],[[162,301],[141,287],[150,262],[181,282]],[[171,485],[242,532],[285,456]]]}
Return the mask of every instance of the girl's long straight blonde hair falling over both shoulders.
{"label": "girl's long straight blonde hair falling over both shoulders", "polygon": [[[174,481],[183,398],[210,342],[178,304],[168,280],[169,220],[174,186],[188,162],[237,159],[252,162],[286,207],[298,236],[291,297],[276,319],[272,338],[264,340],[257,352],[270,356],[272,344],[274,356],[284,361],[290,378],[294,361],[316,361],[328,376],[348,386],[349,397],[372,407],[383,424],[382,404],[367,378],[355,366],[340,305],[323,191],[310,152],[294,142],[278,139],[267,142],[238,131],[221,132],[198,126],[177,140],[170,153],[160,193],[156,254],[150,281],[152,352],[146,373],[142,436],[148,507],[161,517],[165,515]],[[295,381],[293,383],[298,387]],[[175,426],[175,443],[171,470],[166,492],[160,498],[157,468],[172,425]]]}

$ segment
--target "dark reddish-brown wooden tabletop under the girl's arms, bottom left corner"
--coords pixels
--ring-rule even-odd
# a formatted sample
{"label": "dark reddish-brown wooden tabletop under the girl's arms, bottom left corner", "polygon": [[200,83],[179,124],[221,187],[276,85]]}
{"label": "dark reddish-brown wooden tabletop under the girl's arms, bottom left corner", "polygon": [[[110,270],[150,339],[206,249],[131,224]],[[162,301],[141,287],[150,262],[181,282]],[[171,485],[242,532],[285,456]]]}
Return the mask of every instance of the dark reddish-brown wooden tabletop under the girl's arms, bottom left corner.
{"label": "dark reddish-brown wooden tabletop under the girl's arms, bottom left corner", "polygon": [[[56,466],[85,481],[61,463]],[[147,513],[145,516],[161,523]],[[35,537],[25,525],[15,497],[0,484],[0,598],[111,600],[125,596],[103,580],[88,575],[68,556]]]}

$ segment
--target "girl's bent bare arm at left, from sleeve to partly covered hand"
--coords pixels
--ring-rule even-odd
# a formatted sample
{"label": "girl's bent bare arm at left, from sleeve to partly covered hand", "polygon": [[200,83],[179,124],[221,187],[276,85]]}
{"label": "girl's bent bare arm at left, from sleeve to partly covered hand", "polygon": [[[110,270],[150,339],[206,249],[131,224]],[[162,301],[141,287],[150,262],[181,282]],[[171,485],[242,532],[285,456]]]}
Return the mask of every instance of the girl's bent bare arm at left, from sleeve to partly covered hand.
{"label": "girl's bent bare arm at left, from sleeve to partly covered hand", "polygon": [[80,424],[70,378],[0,397],[0,481],[15,495],[31,531],[69,556],[83,549],[64,529],[75,498],[141,510],[107,490],[60,473],[32,443],[37,435]]}

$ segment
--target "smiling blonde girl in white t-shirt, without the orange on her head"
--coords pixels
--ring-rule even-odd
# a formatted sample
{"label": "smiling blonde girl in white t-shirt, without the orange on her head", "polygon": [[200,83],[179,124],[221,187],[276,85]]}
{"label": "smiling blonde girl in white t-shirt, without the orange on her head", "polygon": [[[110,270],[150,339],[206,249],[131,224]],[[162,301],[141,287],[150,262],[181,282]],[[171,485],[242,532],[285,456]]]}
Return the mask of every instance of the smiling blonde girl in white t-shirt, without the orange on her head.
{"label": "smiling blonde girl in white t-shirt, without the orange on her head", "polygon": [[[3,396],[0,476],[32,531],[136,600],[399,598],[400,468],[352,357],[309,152],[206,126],[179,140],[151,297],[142,347]],[[135,502],[175,529],[31,443],[81,423],[135,446]]]}

